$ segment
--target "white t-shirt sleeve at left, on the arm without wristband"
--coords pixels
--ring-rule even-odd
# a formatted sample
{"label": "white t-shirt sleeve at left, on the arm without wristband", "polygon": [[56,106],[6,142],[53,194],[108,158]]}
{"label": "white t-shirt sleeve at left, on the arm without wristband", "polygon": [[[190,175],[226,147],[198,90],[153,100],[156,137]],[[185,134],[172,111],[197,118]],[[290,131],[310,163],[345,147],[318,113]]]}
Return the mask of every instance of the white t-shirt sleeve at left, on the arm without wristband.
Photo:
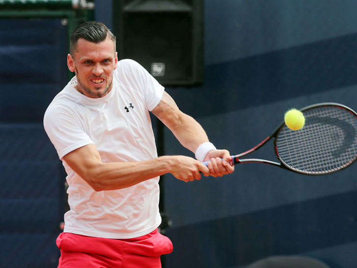
{"label": "white t-shirt sleeve at left, on the arm without wristband", "polygon": [[44,128],[60,159],[77,148],[94,143],[76,117],[63,108],[49,107],[46,110]]}

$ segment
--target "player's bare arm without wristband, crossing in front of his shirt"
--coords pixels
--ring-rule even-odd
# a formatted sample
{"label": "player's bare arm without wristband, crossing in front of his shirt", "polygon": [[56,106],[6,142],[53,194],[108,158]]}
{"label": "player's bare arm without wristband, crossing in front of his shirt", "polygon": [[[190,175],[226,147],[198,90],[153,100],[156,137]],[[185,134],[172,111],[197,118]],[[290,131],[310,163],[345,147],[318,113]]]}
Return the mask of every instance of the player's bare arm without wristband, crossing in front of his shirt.
{"label": "player's bare arm without wristband, crossing in front of his shirt", "polygon": [[63,160],[96,191],[114,190],[133,186],[165,173],[179,180],[199,180],[209,170],[200,161],[186,156],[162,156],[137,162],[102,162],[94,144],[80,147]]}

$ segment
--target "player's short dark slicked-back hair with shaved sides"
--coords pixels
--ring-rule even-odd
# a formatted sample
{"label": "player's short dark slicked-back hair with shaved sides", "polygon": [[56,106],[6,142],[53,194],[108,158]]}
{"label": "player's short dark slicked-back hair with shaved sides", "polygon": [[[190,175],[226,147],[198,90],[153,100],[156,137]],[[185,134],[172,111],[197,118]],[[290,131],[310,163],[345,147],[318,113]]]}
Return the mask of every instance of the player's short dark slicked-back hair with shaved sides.
{"label": "player's short dark slicked-back hair with shaved sides", "polygon": [[109,38],[114,43],[114,51],[116,51],[115,35],[100,22],[85,22],[78,25],[71,34],[70,53],[73,55],[77,49],[78,39],[83,38],[93,43],[100,43]]}

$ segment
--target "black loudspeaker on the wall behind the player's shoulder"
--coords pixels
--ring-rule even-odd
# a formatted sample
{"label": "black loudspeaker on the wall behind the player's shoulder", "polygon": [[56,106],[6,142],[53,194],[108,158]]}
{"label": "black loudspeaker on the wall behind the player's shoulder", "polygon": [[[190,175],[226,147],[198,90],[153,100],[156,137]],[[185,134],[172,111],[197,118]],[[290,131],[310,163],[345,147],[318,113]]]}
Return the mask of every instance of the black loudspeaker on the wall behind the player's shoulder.
{"label": "black loudspeaker on the wall behind the player's shoulder", "polygon": [[203,0],[113,0],[119,59],[143,65],[161,84],[204,80]]}

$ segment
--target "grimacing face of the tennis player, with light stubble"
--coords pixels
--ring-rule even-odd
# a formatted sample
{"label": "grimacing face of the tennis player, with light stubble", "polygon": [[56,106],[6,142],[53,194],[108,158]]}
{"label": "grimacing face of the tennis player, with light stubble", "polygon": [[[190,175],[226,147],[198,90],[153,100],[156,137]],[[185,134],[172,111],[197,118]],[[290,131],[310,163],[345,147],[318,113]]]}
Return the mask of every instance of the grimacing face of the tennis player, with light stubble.
{"label": "grimacing face of the tennis player, with light stubble", "polygon": [[76,89],[89,98],[101,98],[112,89],[117,63],[114,43],[108,37],[100,43],[80,38],[75,53],[67,57],[68,68],[77,76]]}

